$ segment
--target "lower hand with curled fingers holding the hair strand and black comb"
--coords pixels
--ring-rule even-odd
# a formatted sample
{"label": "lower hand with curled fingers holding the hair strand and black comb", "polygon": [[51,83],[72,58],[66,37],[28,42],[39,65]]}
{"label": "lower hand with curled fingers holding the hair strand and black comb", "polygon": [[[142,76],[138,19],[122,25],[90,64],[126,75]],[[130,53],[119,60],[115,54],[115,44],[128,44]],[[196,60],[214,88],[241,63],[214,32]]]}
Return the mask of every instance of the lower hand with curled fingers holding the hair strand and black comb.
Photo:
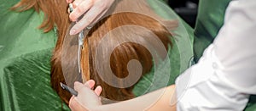
{"label": "lower hand with curled fingers holding the hair strand and black comb", "polygon": [[94,80],[88,80],[84,85],[79,82],[74,83],[74,90],[79,92],[78,97],[71,97],[69,100],[69,108],[73,111],[86,111],[102,105],[99,95],[102,87],[97,86],[93,91],[91,88],[95,85]]}

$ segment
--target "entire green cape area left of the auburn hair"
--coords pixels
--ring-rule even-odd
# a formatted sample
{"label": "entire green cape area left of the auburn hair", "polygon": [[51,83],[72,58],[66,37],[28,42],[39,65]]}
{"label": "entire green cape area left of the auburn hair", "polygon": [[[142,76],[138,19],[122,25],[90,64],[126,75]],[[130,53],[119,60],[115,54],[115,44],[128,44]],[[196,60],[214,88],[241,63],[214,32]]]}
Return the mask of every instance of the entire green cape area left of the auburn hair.
{"label": "entire green cape area left of the auburn hair", "polygon": [[38,30],[43,13],[9,11],[15,3],[0,4],[0,110],[61,110],[61,99],[49,84],[55,33]]}

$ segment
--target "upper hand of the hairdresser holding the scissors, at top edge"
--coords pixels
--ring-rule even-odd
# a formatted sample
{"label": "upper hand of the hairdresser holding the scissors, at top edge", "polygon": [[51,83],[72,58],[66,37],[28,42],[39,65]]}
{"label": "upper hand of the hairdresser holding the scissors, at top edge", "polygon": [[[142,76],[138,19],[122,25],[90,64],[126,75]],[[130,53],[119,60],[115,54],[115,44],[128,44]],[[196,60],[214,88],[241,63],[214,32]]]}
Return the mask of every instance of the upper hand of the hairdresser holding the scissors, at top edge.
{"label": "upper hand of the hairdresser holding the scissors, at top edge", "polygon": [[101,19],[108,12],[114,0],[75,0],[73,2],[73,12],[69,15],[72,21],[76,21],[84,14],[84,17],[73,26],[70,31],[71,35],[78,34],[85,27],[94,25],[97,20]]}

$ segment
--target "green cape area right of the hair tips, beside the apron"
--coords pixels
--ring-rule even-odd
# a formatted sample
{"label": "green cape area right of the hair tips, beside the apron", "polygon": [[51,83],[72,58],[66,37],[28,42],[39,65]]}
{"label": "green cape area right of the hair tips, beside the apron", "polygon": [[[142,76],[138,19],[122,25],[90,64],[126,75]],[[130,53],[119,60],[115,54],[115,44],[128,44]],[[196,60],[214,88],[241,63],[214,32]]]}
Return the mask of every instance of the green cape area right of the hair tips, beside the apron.
{"label": "green cape area right of the hair tips, beside the apron", "polygon": [[[178,20],[178,27],[173,32],[173,46],[169,48],[169,62],[162,62],[159,67],[144,75],[134,87],[133,92],[141,96],[147,92],[160,89],[175,83],[175,79],[190,66],[193,57],[193,29],[183,22],[165,3],[148,0],[148,4],[164,19]],[[170,64],[168,67],[167,65]]]}

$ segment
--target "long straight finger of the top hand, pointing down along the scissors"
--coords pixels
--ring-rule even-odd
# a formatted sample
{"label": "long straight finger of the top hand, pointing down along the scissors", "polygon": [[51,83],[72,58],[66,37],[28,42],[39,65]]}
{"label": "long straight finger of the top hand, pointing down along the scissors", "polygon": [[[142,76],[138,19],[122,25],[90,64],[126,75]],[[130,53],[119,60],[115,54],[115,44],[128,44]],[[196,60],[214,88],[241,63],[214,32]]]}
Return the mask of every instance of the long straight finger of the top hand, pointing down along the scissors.
{"label": "long straight finger of the top hand, pointing down along the scissors", "polygon": [[73,26],[70,31],[70,35],[76,35],[80,31],[82,31],[85,27],[90,25],[98,15],[101,15],[104,8],[98,8],[97,6],[93,6],[90,10],[84,14],[84,17],[79,20],[79,22]]}

